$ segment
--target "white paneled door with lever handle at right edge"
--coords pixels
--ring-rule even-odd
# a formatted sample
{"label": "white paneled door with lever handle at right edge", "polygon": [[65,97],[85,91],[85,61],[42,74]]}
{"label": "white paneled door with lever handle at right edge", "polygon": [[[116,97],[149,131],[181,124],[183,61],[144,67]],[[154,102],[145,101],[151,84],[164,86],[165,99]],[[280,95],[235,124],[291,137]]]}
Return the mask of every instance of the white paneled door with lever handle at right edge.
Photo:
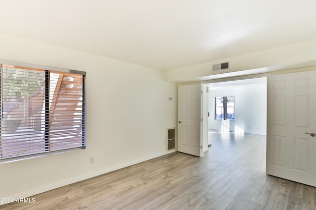
{"label": "white paneled door with lever handle at right edge", "polygon": [[316,186],[316,71],[267,84],[267,174]]}

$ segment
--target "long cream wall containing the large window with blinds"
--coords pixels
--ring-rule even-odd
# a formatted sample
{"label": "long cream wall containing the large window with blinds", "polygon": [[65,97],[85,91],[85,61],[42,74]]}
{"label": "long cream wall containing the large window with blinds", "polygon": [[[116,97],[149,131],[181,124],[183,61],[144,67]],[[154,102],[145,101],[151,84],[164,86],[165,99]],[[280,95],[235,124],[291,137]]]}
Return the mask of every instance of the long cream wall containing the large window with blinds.
{"label": "long cream wall containing the large window with blinds", "polygon": [[86,149],[0,164],[0,198],[32,196],[167,153],[177,86],[160,71],[5,34],[0,59],[86,71],[87,84]]}

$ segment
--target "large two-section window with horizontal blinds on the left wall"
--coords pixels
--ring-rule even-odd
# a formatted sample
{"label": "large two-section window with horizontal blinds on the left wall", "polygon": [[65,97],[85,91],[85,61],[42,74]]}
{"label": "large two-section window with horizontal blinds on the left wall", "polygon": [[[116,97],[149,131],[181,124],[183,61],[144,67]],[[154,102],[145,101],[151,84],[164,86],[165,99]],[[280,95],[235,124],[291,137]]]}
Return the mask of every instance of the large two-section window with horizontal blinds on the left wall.
{"label": "large two-section window with horizontal blinds on the left wall", "polygon": [[85,148],[84,77],[1,64],[0,159]]}

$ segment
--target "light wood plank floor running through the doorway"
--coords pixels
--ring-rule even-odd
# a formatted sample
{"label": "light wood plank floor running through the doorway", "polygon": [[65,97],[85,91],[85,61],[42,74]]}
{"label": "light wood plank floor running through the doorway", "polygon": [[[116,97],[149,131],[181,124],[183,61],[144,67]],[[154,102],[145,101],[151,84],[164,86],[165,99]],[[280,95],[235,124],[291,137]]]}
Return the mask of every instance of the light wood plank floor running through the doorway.
{"label": "light wood plank floor running through the doorway", "polygon": [[174,152],[1,210],[315,210],[316,188],[265,174],[266,136],[210,132],[204,157]]}

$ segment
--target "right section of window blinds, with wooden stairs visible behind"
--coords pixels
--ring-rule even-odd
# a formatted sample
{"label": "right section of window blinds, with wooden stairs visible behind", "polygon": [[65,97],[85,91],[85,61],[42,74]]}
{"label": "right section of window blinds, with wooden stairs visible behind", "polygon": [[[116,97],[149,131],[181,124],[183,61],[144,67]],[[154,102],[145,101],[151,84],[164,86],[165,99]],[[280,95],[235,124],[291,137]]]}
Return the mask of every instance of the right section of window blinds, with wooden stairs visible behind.
{"label": "right section of window blinds, with wooden stairs visible behind", "polygon": [[50,72],[49,150],[84,147],[83,75]]}

